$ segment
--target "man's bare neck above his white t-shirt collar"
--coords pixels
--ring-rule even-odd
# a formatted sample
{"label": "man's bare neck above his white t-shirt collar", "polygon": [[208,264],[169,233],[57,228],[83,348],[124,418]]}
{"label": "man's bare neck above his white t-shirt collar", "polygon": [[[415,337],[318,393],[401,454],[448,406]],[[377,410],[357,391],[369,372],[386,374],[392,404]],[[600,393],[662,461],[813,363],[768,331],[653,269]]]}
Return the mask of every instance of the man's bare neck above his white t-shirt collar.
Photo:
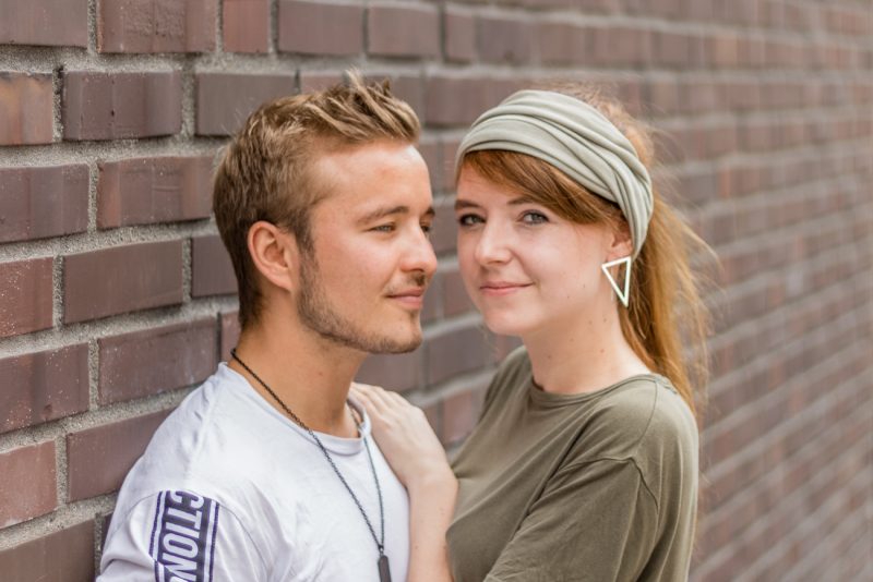
{"label": "man's bare neck above his white t-shirt collar", "polygon": [[[241,334],[237,355],[309,428],[357,436],[346,399],[366,353],[336,345],[300,326],[278,328],[263,323]],[[283,405],[239,362],[231,359],[228,365],[287,416]]]}

